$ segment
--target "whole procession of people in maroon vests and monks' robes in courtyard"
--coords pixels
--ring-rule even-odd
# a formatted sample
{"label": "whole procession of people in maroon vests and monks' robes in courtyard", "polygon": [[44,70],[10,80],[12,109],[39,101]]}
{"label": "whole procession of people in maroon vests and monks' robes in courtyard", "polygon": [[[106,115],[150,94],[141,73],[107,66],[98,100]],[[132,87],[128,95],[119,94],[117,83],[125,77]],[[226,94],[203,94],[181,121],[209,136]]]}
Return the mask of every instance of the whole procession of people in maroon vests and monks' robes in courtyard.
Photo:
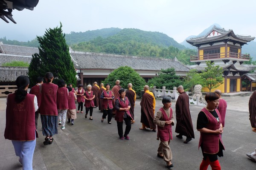
{"label": "whole procession of people in maroon vests and monks' robes in courtyard", "polygon": [[[29,94],[29,78],[19,76],[16,80],[17,91],[10,94],[6,100],[6,129],[5,138],[12,140],[15,153],[19,156],[19,161],[23,169],[32,170],[32,159],[35,150],[35,138],[38,137],[37,124],[38,113],[41,115],[42,133],[45,137],[44,145],[52,144],[52,136],[58,133],[58,124],[61,130],[65,129],[66,116],[68,123],[74,125],[76,113],[83,113],[85,106],[87,114],[90,111],[90,120],[93,120],[93,108],[99,107],[103,112],[101,122],[104,122],[108,116],[108,124],[111,123],[112,116],[117,123],[119,139],[129,140],[128,136],[131,130],[131,124],[134,120],[134,106],[136,93],[132,89],[132,84],[128,84],[128,90],[120,86],[120,81],[116,80],[116,85],[110,90],[110,84],[101,87],[94,82],[93,86],[87,85],[85,91],[83,85],[79,85],[75,91],[72,85],[68,86],[63,79],[59,79],[57,85],[52,83],[53,74],[45,74],[45,83],[43,78],[38,77],[37,84],[31,88]],[[66,88],[67,87],[67,88]],[[189,111],[189,96],[184,92],[183,86],[177,88],[180,94],[176,106],[176,128],[177,138],[182,139],[186,136],[183,143],[187,144],[195,138],[192,119]],[[175,123],[174,113],[172,111],[172,102],[170,97],[163,97],[163,107],[155,112],[154,94],[149,91],[148,85],[144,86],[144,94],[140,102],[141,105],[141,130],[150,128],[157,131],[157,140],[160,144],[157,150],[157,157],[166,161],[166,167],[171,168],[172,151],[169,147],[172,140],[172,126]],[[256,93],[255,93],[256,94]],[[78,111],[76,111],[75,100],[78,102]],[[205,96],[207,106],[203,108],[197,119],[197,130],[200,132],[198,148],[201,147],[203,160],[200,170],[207,170],[210,165],[214,170],[220,170],[221,166],[217,156],[223,156],[224,145],[222,142],[222,133],[225,123],[225,113],[227,102],[221,98],[221,91],[207,93]],[[255,117],[253,99],[250,99],[249,106],[250,120]],[[18,114],[17,114],[18,113]],[[255,121],[255,120],[254,120]],[[123,122],[125,122],[125,132],[123,133]],[[15,126],[14,126],[15,125]],[[253,126],[254,124],[252,124]],[[255,126],[253,127],[253,131]],[[250,159],[254,159],[256,153],[247,154]]]}

